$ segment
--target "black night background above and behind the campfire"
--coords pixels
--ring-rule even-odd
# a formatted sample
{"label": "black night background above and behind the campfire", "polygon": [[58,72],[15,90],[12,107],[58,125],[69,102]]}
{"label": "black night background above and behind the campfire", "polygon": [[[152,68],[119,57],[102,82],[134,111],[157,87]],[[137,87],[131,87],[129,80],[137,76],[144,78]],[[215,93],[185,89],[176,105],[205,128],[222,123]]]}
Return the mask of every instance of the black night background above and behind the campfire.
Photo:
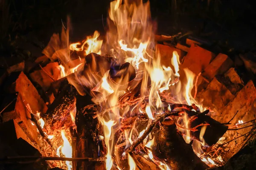
{"label": "black night background above and behind the campfire", "polygon": [[[38,57],[54,32],[71,17],[71,41],[105,33],[111,0],[0,0],[0,57]],[[150,0],[157,32],[181,32],[210,40],[218,52],[254,51],[253,0]],[[104,26],[103,26],[104,25]],[[25,52],[24,52],[25,51]],[[22,53],[22,54],[21,54]],[[28,54],[27,54],[28,53]]]}

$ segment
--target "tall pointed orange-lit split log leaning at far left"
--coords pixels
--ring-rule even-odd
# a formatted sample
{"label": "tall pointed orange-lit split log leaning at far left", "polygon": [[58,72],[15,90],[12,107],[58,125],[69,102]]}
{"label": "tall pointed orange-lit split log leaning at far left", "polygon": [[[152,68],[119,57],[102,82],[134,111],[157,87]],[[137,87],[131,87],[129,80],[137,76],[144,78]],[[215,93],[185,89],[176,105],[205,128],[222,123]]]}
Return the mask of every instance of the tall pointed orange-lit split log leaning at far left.
{"label": "tall pointed orange-lit split log leaning at far left", "polygon": [[29,103],[33,113],[45,113],[47,106],[23,72],[10,75],[9,80],[5,82],[5,87],[6,86],[9,88],[10,92],[17,93],[17,100],[14,102],[15,105],[10,106],[9,112],[18,115],[15,121],[32,142],[39,144],[38,133],[36,127],[32,125],[30,120],[31,115],[26,109],[26,104]]}

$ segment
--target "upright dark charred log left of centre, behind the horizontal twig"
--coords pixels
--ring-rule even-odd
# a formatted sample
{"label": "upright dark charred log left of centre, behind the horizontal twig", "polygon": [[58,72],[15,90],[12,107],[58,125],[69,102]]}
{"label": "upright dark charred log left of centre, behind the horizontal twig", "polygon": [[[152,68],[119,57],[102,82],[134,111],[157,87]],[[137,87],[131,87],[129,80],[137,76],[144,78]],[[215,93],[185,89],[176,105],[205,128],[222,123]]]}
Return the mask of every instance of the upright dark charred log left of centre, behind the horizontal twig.
{"label": "upright dark charred log left of centre, behind the horizontal twig", "polygon": [[[99,158],[104,154],[102,148],[102,126],[98,119],[93,119],[93,114],[98,111],[91,102],[90,96],[76,96],[76,131],[73,133],[73,157]],[[105,162],[73,162],[73,170],[105,170]]]}

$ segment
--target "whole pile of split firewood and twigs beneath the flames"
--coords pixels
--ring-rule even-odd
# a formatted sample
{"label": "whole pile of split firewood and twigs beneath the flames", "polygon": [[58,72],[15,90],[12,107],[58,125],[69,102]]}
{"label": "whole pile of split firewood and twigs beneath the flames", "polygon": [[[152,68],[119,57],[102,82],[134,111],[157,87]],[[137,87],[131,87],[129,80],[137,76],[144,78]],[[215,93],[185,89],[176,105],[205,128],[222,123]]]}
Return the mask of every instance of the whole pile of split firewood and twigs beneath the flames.
{"label": "whole pile of split firewood and twigs beneath the flames", "polygon": [[[209,107],[209,110],[200,113],[195,105],[175,105],[163,99],[166,109],[162,116],[153,121],[148,119],[145,112],[140,113],[135,110],[133,113],[129,113],[113,132],[115,141],[113,158],[119,160],[114,167],[118,166],[124,169],[128,167],[127,159],[123,159],[122,156],[122,153],[126,153],[133,157],[137,169],[141,170],[159,170],[159,166],[161,166],[158,164],[159,162],[163,162],[173,170],[206,169],[207,165],[201,161],[202,158],[212,159],[214,164],[206,161],[212,167],[223,165],[254,135],[255,127],[252,125],[252,120],[256,116],[256,88],[253,81],[245,81],[243,77],[241,78],[239,70],[234,68],[233,61],[227,55],[215,55],[201,47],[207,47],[207,42],[188,38],[186,45],[177,43],[173,46],[169,45],[172,38],[156,37],[160,42],[157,44],[157,48],[161,53],[161,62],[165,66],[170,66],[173,51],[177,51],[182,60],[180,67],[189,68],[197,75],[194,82],[195,87],[192,90],[193,96],[205,107]],[[73,56],[76,55],[73,54]],[[100,70],[93,68],[90,65],[94,61],[93,57],[104,67],[101,67]],[[111,68],[114,59],[97,54],[89,54],[82,58],[86,60],[86,64],[79,73],[87,78],[85,76],[87,74],[83,73],[97,72],[99,79],[96,81],[100,81],[105,71],[109,69],[117,69],[121,72],[122,69],[129,68],[129,65]],[[77,60],[77,57],[74,57],[74,60]],[[100,137],[103,136],[102,125],[96,117],[104,115],[107,111],[102,112],[102,108],[92,102],[91,88],[81,87],[78,89],[77,86],[75,88],[70,85],[68,79],[74,78],[76,73],[70,74],[68,78],[59,79],[58,65],[60,63],[50,61],[45,56],[38,58],[34,63],[28,65],[24,63],[9,67],[0,77],[1,89],[3,89],[1,92],[3,101],[1,101],[2,107],[0,108],[0,147],[5,148],[5,152],[1,152],[0,167],[3,165],[15,168],[17,163],[24,160],[30,160],[31,163],[31,158],[23,158],[15,159],[14,165],[14,161],[10,161],[6,156],[41,156],[39,151],[42,151],[42,142],[47,143],[48,139],[42,138],[43,135],[38,133],[38,127],[33,125],[31,113],[40,113],[52,130],[58,130],[71,126],[70,111],[76,108],[76,128],[70,128],[73,158],[84,159],[74,159],[73,170],[79,170],[81,167],[88,170],[105,169],[106,145]],[[131,71],[129,73],[131,73],[132,80],[134,73],[132,73],[132,69],[128,69],[128,71]],[[185,77],[184,73],[181,72],[180,77]],[[112,76],[111,81],[114,81],[114,78]],[[139,99],[140,84],[137,86],[138,88],[131,91],[129,96],[125,96],[127,95],[125,94],[125,97],[121,97],[118,107],[132,106],[140,102],[141,108],[144,107],[145,110],[145,103],[148,102],[148,99],[144,99],[144,101]],[[81,94],[86,95],[82,96]],[[27,104],[31,110],[27,109]],[[171,111],[168,110],[169,105],[171,105]],[[177,132],[177,119],[184,114],[188,114],[192,120],[189,130],[192,132],[194,140],[200,140],[202,127],[208,126],[204,135],[204,141],[208,147],[203,148],[204,154],[201,155],[201,159],[194,153],[192,143],[186,144],[182,136],[184,134]],[[246,124],[236,127],[239,120]],[[227,125],[230,129],[248,127],[227,130]],[[147,130],[139,137],[139,132],[146,127]],[[132,128],[133,144],[126,147],[127,142],[123,132]],[[44,140],[41,141],[41,139]],[[154,146],[152,148],[145,147],[143,141],[152,139],[155,139]],[[51,145],[51,141],[48,141],[47,145],[51,148],[52,146],[49,145]],[[148,150],[152,151],[155,160],[152,161],[145,156],[148,155]],[[35,162],[38,161],[33,158],[33,164],[30,164],[29,169],[45,168],[47,164],[44,161],[48,159],[41,158],[40,160],[43,160],[40,161],[43,163],[36,165]],[[23,165],[19,166],[24,167]]]}

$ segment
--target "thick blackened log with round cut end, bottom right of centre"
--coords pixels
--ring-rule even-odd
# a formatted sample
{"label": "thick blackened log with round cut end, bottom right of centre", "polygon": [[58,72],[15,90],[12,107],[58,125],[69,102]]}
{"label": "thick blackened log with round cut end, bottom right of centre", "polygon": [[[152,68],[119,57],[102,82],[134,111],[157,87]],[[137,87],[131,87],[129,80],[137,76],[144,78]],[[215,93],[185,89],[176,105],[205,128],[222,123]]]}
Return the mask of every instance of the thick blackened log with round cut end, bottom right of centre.
{"label": "thick blackened log with round cut end, bottom right of centre", "polygon": [[176,125],[157,126],[154,131],[153,156],[170,166],[172,170],[204,170],[207,165],[195,155],[191,144],[186,144],[177,133]]}

